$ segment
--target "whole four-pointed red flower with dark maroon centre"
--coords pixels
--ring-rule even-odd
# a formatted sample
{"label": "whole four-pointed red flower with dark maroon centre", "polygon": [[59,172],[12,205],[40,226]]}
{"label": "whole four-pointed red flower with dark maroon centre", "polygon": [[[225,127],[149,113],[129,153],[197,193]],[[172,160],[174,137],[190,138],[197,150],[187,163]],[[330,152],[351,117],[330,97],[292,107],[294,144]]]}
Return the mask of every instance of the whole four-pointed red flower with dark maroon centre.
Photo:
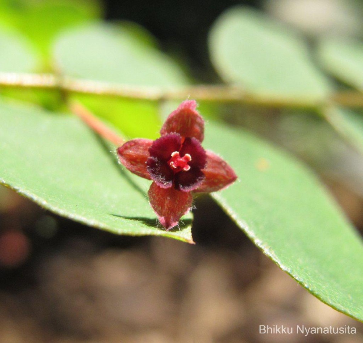
{"label": "whole four-pointed red flower with dark maroon centre", "polygon": [[170,230],[192,206],[191,192],[214,192],[233,183],[231,166],[204,150],[204,120],[196,102],[187,100],[172,112],[155,141],[134,139],[117,149],[122,165],[152,182],[148,191],[152,209]]}

